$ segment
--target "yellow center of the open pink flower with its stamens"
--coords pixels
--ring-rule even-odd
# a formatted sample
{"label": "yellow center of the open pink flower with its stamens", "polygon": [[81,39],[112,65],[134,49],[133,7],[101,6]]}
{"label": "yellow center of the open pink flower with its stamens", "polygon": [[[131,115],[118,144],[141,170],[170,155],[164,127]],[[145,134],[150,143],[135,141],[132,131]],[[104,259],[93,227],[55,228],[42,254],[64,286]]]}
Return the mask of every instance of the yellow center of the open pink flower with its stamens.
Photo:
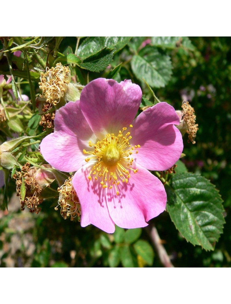
{"label": "yellow center of the open pink flower with its stamens", "polygon": [[[133,126],[130,125],[130,128]],[[91,157],[85,158],[86,162],[94,161],[94,165],[89,173],[88,179],[92,177],[99,180],[102,188],[112,189],[115,187],[116,194],[119,195],[118,185],[122,182],[128,182],[130,171],[136,173],[138,169],[131,168],[133,153],[138,153],[137,148],[140,145],[131,146],[129,140],[132,138],[130,132],[123,134],[127,128],[119,131],[118,135],[114,133],[107,134],[103,140],[96,144],[89,141],[89,147],[94,147],[94,151],[83,150],[84,154],[91,154]]]}

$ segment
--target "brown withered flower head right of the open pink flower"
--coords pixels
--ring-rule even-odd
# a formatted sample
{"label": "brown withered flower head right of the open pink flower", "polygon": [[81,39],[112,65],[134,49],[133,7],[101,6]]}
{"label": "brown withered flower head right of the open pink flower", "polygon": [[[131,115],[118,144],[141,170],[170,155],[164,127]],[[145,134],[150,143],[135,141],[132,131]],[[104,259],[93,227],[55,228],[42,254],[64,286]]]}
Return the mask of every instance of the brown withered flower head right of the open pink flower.
{"label": "brown withered flower head right of the open pink flower", "polygon": [[180,125],[177,127],[181,131],[182,135],[184,135],[184,133],[188,133],[188,142],[192,142],[194,144],[198,130],[194,108],[185,100],[182,102],[181,107],[182,111],[176,111],[180,118]]}

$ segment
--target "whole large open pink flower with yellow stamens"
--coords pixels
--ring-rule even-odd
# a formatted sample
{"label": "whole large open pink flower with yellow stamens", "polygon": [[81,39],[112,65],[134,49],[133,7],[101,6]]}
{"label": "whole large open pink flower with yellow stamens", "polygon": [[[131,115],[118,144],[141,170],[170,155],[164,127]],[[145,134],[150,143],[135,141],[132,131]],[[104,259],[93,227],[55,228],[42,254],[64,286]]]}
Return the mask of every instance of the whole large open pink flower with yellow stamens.
{"label": "whole large open pink flower with yellow stamens", "polygon": [[80,101],[56,112],[54,133],[41,142],[47,162],[75,172],[83,227],[93,224],[108,233],[115,224],[144,227],[165,209],[164,186],[148,170],[167,170],[180,158],[182,136],[174,126],[179,118],[165,102],[135,118],[141,98],[130,80],[91,81]]}

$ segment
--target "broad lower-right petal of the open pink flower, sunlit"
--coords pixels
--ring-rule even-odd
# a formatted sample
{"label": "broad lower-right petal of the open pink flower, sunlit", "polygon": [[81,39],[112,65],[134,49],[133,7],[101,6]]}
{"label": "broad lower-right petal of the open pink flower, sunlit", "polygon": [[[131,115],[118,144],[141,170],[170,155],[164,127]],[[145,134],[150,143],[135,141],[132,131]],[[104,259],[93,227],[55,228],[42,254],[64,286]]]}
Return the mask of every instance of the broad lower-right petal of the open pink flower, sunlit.
{"label": "broad lower-right petal of the open pink flower, sunlit", "polygon": [[107,190],[107,205],[115,224],[122,228],[147,226],[147,222],[164,211],[167,201],[161,181],[145,168],[137,166],[128,184],[120,183],[120,194]]}

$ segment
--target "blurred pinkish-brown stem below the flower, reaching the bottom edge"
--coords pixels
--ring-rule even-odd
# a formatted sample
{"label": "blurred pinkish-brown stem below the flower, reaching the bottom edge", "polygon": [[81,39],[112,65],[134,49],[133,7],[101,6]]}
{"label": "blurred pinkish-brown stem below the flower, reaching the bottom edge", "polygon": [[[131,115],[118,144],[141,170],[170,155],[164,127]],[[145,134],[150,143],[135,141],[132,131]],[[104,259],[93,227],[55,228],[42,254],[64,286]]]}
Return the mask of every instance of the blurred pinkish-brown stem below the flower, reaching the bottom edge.
{"label": "blurred pinkish-brown stem below the flower, reaching the bottom edge", "polygon": [[152,226],[151,230],[147,229],[147,231],[160,258],[160,262],[164,265],[164,267],[174,267],[170,261],[170,257],[168,256],[167,251],[161,244],[161,239],[156,227]]}

